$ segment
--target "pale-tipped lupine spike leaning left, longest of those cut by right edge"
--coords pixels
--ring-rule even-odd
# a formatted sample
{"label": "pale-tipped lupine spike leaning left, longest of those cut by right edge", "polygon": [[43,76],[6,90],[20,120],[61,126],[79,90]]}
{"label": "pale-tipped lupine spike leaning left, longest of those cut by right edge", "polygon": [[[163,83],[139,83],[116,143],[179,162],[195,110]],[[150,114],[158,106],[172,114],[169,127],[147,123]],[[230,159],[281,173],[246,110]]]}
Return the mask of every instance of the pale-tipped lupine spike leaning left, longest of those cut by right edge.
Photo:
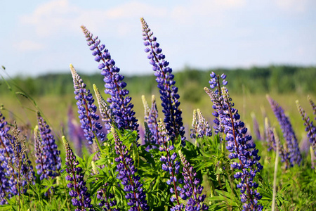
{"label": "pale-tipped lupine spike leaning left, longest of those cut by right edge", "polygon": [[304,121],[305,132],[308,132],[307,137],[310,141],[310,145],[312,146],[312,149],[314,150],[314,153],[316,155],[316,128],[314,124],[312,124],[312,121],[310,121],[310,117],[306,115],[305,110],[303,110],[298,101],[296,101],[296,106],[298,112],[301,114],[302,120]]}

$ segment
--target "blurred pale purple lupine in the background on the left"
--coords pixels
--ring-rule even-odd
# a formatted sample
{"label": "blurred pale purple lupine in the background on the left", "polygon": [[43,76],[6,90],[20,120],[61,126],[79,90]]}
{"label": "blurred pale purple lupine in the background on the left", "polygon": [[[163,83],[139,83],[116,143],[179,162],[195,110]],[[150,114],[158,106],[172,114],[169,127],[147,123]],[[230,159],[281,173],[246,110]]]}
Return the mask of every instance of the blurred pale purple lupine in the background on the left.
{"label": "blurred pale purple lupine in the background on the left", "polygon": [[82,155],[82,144],[86,143],[86,147],[89,149],[89,151],[91,151],[91,145],[85,141],[86,137],[84,136],[84,130],[81,129],[81,125],[75,119],[72,106],[69,106],[68,108],[67,117],[68,135],[72,143],[74,143],[74,150],[80,157]]}

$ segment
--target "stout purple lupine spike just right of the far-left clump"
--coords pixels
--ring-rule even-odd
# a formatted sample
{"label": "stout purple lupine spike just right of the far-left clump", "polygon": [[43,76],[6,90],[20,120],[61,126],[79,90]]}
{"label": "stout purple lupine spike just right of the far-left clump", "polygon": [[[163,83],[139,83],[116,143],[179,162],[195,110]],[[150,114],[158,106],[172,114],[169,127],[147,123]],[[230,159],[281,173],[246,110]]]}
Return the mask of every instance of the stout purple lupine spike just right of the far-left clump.
{"label": "stout purple lupine spike just right of the far-left clump", "polygon": [[37,163],[39,178],[55,178],[61,167],[60,151],[58,151],[51,128],[39,112],[37,112],[37,122],[40,135],[38,139],[35,139],[35,146],[37,146],[37,160],[35,162]]}

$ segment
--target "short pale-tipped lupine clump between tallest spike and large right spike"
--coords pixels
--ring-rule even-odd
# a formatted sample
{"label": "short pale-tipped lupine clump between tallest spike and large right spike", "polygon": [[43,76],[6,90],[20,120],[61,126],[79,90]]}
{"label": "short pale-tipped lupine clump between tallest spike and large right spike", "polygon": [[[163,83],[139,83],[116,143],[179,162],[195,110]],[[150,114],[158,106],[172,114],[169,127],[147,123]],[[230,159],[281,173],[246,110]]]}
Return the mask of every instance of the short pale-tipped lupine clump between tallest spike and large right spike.
{"label": "short pale-tipped lupine clump between tallest spike and large right spike", "polygon": [[191,139],[203,138],[204,136],[212,136],[209,122],[205,120],[201,110],[193,110],[192,129],[190,129]]}

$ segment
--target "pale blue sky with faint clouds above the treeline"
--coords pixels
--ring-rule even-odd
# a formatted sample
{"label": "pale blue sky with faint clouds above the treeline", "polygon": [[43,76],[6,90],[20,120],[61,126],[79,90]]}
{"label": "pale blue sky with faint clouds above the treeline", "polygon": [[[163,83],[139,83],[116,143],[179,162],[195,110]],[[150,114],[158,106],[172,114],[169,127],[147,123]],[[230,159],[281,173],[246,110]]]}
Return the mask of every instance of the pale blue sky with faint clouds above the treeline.
{"label": "pale blue sky with faint clouds above the treeline", "polygon": [[0,65],[9,75],[98,72],[80,26],[124,75],[152,74],[140,17],[173,70],[316,65],[316,1],[0,1]]}

